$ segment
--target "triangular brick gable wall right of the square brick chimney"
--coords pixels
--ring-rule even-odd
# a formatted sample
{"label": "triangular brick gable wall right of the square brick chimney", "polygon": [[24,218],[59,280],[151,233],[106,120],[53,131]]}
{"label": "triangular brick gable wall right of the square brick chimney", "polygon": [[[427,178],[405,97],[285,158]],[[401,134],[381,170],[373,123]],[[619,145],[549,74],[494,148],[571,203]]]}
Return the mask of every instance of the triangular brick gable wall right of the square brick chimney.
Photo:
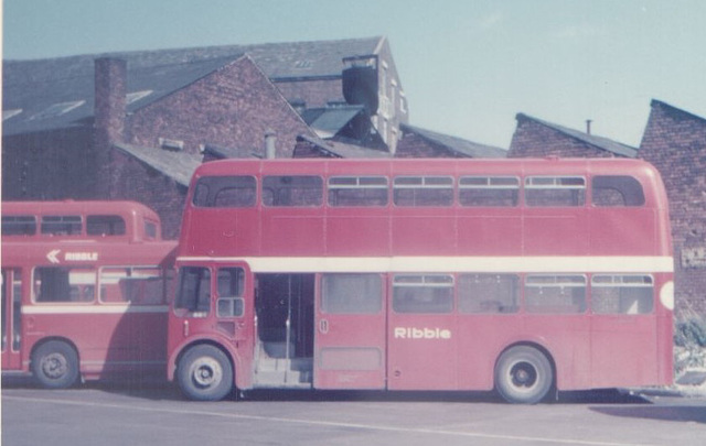
{"label": "triangular brick gable wall right of the square brick chimney", "polygon": [[291,157],[297,135],[311,134],[247,56],[137,110],[126,127],[135,145],[158,148],[165,138],[183,141],[183,150],[193,154],[204,143],[263,153],[265,132],[275,130],[277,156]]}

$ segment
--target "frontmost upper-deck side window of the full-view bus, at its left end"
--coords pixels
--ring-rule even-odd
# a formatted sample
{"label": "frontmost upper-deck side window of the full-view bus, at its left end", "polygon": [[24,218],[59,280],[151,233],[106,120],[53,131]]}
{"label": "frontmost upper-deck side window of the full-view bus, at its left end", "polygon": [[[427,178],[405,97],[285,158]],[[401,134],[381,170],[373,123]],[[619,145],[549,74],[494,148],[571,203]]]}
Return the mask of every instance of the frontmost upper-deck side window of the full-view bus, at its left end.
{"label": "frontmost upper-deck side window of the full-view bus, at its left end", "polygon": [[253,176],[204,176],[196,183],[196,207],[253,207],[257,182]]}

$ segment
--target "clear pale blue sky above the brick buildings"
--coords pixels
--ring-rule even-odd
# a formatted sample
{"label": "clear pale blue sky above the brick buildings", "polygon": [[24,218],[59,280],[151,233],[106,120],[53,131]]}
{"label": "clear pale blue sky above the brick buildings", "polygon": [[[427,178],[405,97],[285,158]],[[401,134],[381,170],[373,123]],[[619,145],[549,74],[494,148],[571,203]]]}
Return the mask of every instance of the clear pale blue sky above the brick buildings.
{"label": "clear pale blue sky above the brick buildings", "polygon": [[702,0],[4,0],[3,58],[385,35],[411,124],[507,148],[515,115],[639,145],[706,117]]}

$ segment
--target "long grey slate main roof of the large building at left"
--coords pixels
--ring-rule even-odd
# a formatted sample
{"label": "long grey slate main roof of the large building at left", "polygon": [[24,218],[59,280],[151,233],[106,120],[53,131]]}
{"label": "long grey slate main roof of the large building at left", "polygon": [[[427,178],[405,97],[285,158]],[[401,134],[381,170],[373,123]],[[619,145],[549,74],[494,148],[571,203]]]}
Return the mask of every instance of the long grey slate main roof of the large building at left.
{"label": "long grey slate main roof of the large building at left", "polygon": [[[2,110],[3,118],[7,118],[3,133],[18,134],[90,123],[95,95],[94,63],[98,57],[127,61],[128,95],[135,94],[132,98],[137,98],[128,105],[129,112],[244,54],[272,81],[340,78],[343,57],[375,54],[384,42],[384,37],[367,37],[3,61]],[[137,95],[139,93],[147,96],[140,98]]]}

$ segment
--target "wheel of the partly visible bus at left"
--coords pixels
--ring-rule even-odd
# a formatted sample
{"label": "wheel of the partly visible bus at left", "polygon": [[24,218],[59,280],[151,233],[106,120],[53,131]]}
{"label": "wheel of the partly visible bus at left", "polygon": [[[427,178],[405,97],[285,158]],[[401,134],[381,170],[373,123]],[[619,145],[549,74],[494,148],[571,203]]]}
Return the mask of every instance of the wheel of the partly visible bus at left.
{"label": "wheel of the partly visible bus at left", "polygon": [[78,355],[61,340],[41,345],[32,355],[32,373],[46,389],[66,389],[78,379]]}

